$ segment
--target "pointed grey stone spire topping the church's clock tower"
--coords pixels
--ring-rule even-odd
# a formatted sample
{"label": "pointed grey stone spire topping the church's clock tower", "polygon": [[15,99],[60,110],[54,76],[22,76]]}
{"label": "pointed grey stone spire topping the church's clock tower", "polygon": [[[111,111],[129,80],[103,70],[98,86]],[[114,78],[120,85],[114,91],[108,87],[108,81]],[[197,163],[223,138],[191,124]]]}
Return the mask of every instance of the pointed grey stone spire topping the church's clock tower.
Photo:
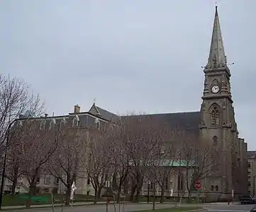
{"label": "pointed grey stone spire topping the church's clock tower", "polygon": [[210,54],[208,57],[208,64],[206,68],[217,68],[226,66],[227,60],[224,51],[223,40],[221,37],[221,25],[218,18],[218,8],[216,6],[214,23],[213,23],[213,34],[211,36],[211,47]]}

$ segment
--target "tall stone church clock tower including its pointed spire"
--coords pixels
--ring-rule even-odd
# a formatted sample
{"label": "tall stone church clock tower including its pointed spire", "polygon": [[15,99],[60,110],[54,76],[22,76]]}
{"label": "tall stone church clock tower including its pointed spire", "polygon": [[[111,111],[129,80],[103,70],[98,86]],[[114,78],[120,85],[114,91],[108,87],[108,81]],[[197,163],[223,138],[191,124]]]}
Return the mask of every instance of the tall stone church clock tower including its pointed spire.
{"label": "tall stone church clock tower including its pointed spire", "polygon": [[232,185],[231,151],[238,137],[230,90],[230,69],[224,51],[221,25],[216,6],[211,47],[208,62],[204,67],[204,93],[201,104],[201,136],[211,142],[221,154],[221,167],[216,176],[208,179],[207,184],[218,185],[219,191],[230,193]]}

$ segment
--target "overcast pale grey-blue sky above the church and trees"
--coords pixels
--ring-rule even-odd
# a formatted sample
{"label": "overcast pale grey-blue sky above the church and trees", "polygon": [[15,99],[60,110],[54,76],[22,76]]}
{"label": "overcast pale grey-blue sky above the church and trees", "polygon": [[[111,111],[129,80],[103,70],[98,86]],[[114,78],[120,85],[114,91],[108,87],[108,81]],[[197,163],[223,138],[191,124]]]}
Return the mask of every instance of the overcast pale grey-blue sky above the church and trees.
{"label": "overcast pale grey-blue sky above the church and trees", "polygon": [[[256,1],[219,0],[240,136],[256,148]],[[0,70],[49,114],[200,109],[214,0],[1,0]]]}

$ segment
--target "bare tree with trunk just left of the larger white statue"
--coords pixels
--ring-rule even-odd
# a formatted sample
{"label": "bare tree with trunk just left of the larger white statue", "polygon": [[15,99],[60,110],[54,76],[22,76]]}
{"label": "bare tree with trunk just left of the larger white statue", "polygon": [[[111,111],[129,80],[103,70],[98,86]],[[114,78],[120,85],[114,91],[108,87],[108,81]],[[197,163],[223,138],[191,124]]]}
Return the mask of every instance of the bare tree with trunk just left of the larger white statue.
{"label": "bare tree with trunk just left of the larger white statue", "polygon": [[[84,129],[62,125],[57,149],[48,161],[47,171],[65,186],[65,204],[69,205],[72,183],[84,177],[87,160],[88,134]],[[82,175],[82,176],[80,176]]]}

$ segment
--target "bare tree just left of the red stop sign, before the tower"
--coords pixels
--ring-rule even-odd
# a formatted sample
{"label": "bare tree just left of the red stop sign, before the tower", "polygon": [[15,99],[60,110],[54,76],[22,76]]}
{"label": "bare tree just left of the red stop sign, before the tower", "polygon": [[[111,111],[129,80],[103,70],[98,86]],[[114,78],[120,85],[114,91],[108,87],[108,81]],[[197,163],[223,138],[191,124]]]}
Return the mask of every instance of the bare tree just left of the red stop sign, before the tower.
{"label": "bare tree just left of the red stop sign, before the tower", "polygon": [[188,191],[188,201],[191,201],[191,191],[198,180],[211,177],[218,171],[218,149],[209,141],[200,141],[193,134],[187,133],[182,146],[182,159],[185,168],[185,180]]}

